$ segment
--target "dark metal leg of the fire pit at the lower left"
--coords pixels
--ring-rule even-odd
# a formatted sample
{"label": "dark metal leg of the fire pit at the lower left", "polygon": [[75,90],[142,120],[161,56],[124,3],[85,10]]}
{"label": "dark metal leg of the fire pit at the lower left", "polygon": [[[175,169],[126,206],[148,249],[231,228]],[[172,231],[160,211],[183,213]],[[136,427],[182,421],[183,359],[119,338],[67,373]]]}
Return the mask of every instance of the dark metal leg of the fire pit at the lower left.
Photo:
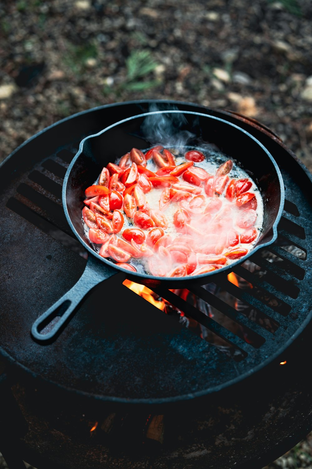
{"label": "dark metal leg of the fire pit at the lower left", "polygon": [[[1,372],[1,371],[0,371]],[[6,373],[0,374],[0,451],[9,469],[25,469],[19,439],[26,422],[11,392]]]}

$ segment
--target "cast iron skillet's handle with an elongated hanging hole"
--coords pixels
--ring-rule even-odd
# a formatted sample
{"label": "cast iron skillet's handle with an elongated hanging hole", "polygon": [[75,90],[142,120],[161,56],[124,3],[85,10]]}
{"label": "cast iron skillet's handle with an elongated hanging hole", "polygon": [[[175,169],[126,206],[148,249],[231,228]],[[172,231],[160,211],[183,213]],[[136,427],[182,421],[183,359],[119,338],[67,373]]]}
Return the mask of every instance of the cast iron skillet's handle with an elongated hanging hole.
{"label": "cast iron skillet's handle with an elongated hanging hole", "polygon": [[[65,322],[73,316],[73,312],[87,293],[103,280],[109,279],[117,271],[107,265],[99,265],[93,257],[88,256],[87,265],[78,282],[65,293],[56,303],[36,319],[31,327],[31,335],[41,343],[51,342],[62,330]],[[54,318],[59,317],[48,333],[41,333]]]}

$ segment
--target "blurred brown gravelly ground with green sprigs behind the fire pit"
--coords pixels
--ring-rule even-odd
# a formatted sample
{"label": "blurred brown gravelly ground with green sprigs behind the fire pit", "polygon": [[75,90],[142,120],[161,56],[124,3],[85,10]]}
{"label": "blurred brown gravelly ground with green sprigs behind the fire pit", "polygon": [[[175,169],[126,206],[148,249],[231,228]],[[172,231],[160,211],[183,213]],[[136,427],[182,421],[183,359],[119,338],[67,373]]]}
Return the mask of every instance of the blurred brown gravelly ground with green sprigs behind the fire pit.
{"label": "blurred brown gravelly ground with green sprigs behind the fire pit", "polygon": [[[311,20],[311,0],[2,1],[0,160],[83,109],[170,98],[255,117],[312,171]],[[311,440],[268,467],[311,468]]]}

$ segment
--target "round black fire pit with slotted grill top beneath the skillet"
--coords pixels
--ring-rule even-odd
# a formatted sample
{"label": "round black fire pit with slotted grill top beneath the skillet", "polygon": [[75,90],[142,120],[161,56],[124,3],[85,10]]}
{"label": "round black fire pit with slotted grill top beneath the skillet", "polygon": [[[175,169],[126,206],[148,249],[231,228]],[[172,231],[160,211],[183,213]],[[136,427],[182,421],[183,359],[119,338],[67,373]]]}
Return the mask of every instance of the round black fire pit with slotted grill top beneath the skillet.
{"label": "round black fire pit with slotted grill top beneath the skillet", "polygon": [[77,144],[150,104],[77,114],[0,168],[8,404],[0,450],[10,469],[22,459],[39,469],[261,468],[311,430],[311,178],[278,137],[232,113],[167,102],[234,122],[272,153],[286,198],[276,244],[189,295],[153,289],[149,300],[173,307],[155,308],[150,292],[138,295],[117,274],[94,288],[54,342],[30,336],[34,320],[86,264],[60,200]]}

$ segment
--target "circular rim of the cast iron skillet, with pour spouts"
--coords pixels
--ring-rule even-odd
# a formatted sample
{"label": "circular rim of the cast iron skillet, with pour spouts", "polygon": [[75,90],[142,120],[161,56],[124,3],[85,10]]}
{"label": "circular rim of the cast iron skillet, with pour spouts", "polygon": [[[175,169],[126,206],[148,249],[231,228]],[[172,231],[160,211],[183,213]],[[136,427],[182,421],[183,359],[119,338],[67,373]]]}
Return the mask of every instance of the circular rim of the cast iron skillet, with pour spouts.
{"label": "circular rim of the cast iron skillet, with pour spouts", "polygon": [[[192,114],[192,115],[196,115],[196,116],[200,116],[200,117],[209,117],[210,119],[213,119],[213,120],[216,120],[216,121],[220,121],[220,122],[224,122],[225,124],[227,125],[230,125],[231,127],[235,128],[235,129],[238,129],[239,131],[243,132],[244,134],[246,134],[249,138],[251,138],[252,140],[254,140],[254,142],[256,144],[258,144],[261,149],[263,151],[265,151],[265,153],[268,155],[268,158],[271,160],[275,170],[276,170],[276,174],[277,174],[277,177],[278,177],[278,181],[279,181],[279,185],[280,185],[280,194],[281,194],[281,200],[280,200],[280,206],[279,206],[279,210],[278,210],[278,213],[277,213],[277,216],[276,216],[276,219],[275,219],[275,222],[273,223],[273,226],[272,226],[272,231],[273,231],[273,235],[272,235],[272,238],[268,241],[268,242],[264,242],[262,244],[259,244],[259,245],[256,245],[252,250],[250,250],[246,256],[244,257],[241,257],[239,259],[237,259],[235,262],[231,263],[230,265],[227,265],[225,267],[222,268],[222,273],[224,272],[228,272],[228,271],[231,271],[231,269],[235,266],[235,265],[239,265],[241,264],[242,262],[244,262],[248,257],[250,257],[252,254],[254,254],[257,250],[259,250],[260,248],[264,248],[265,246],[268,246],[270,244],[272,244],[274,241],[276,241],[277,239],[277,225],[281,219],[281,216],[282,216],[282,212],[283,212],[283,206],[284,206],[284,200],[285,200],[285,194],[284,194],[284,184],[283,184],[283,178],[282,178],[282,174],[279,170],[279,167],[277,166],[276,164],[276,161],[275,159],[272,157],[271,153],[265,148],[265,146],[263,144],[261,144],[261,142],[259,142],[259,140],[257,140],[254,136],[252,136],[249,132],[247,132],[247,130],[245,129],[242,129],[241,127],[233,124],[232,122],[229,122],[229,121],[226,121],[225,119],[221,119],[219,117],[216,117],[216,116],[212,116],[210,114],[205,114],[205,113],[197,113],[197,112],[192,112],[192,111],[179,111],[179,110],[166,110],[166,111],[153,111],[153,112],[150,112],[150,113],[142,113],[142,114],[138,114],[138,115],[134,115],[134,116],[131,116],[131,117],[128,117],[126,119],[123,119],[121,121],[118,121],[118,122],[115,122],[114,124],[110,125],[109,127],[106,127],[105,129],[102,129],[100,132],[94,134],[94,135],[90,135],[90,136],[87,136],[85,137],[81,142],[80,142],[80,145],[79,145],[79,150],[78,152],[76,153],[76,155],[74,156],[74,158],[72,159],[70,165],[68,166],[67,168],[67,171],[66,171],[66,174],[65,174],[65,178],[64,178],[64,183],[63,183],[63,189],[62,189],[62,202],[63,202],[63,208],[64,208],[64,212],[65,212],[65,217],[67,219],[67,222],[69,224],[69,226],[71,227],[73,233],[75,234],[75,236],[77,237],[77,239],[79,240],[79,242],[81,242],[82,238],[80,237],[80,235],[78,234],[78,232],[76,231],[74,225],[73,225],[73,222],[70,218],[70,215],[69,215],[69,212],[68,212],[68,209],[67,209],[67,202],[66,202],[66,189],[67,189],[67,182],[68,182],[68,178],[69,178],[69,175],[71,173],[71,170],[76,162],[76,160],[79,158],[80,154],[82,153],[83,151],[83,147],[84,147],[84,144],[85,142],[87,142],[87,140],[91,139],[91,138],[94,138],[94,137],[97,137],[97,136],[100,136],[102,133],[108,131],[109,129],[112,129],[114,127],[116,127],[117,125],[120,125],[120,124],[123,124],[124,122],[127,122],[127,121],[131,121],[133,119],[137,119],[137,118],[141,118],[141,117],[147,117],[147,116],[150,116],[150,115],[153,115],[153,114],[159,114],[159,113],[162,113],[162,114],[174,114],[174,113],[178,113],[178,114]],[[110,261],[106,260],[104,257],[100,256],[96,251],[94,251],[90,246],[88,246],[88,244],[82,240],[83,242],[83,246],[87,249],[87,251],[92,254],[92,256],[94,256],[95,258],[97,258],[98,260],[100,260],[101,262],[104,262],[105,264],[109,265],[109,267],[113,268],[113,269],[116,269],[118,271],[121,271],[121,272],[125,272],[125,269],[117,266],[116,264],[113,264],[111,263]],[[204,274],[200,274],[200,275],[194,275],[194,276],[187,276],[187,277],[183,277],[183,279],[188,279],[190,281],[194,281],[194,282],[198,282],[200,283],[201,280],[203,280],[203,283],[205,283],[205,279],[207,279],[208,277],[210,277],[211,275],[215,275],[216,273],[219,273],[218,270],[216,271],[212,271],[212,272],[208,272],[208,273],[204,273]],[[151,284],[154,283],[155,285],[157,284],[160,284],[160,282],[164,281],[164,279],[166,279],[166,281],[170,281],[172,283],[172,285],[174,286],[174,284],[178,281],[176,278],[170,278],[170,277],[157,277],[157,276],[153,276],[153,275],[148,275],[148,274],[139,274],[138,272],[129,272],[127,271],[127,276],[129,278],[131,278],[131,280],[133,281],[137,281],[138,283],[141,283],[142,281],[142,278],[143,279],[148,279]],[[141,281],[140,281],[141,280]]]}

